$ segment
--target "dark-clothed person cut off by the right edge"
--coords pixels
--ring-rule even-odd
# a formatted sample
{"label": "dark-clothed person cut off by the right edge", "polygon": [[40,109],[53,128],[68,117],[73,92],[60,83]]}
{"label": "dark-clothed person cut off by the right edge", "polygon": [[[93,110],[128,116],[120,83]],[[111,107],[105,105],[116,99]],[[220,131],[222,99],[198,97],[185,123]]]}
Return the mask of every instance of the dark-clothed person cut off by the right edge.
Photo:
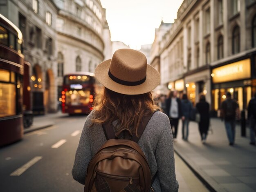
{"label": "dark-clothed person cut off by the right edge", "polygon": [[248,104],[248,117],[250,122],[250,144],[255,146],[255,131],[256,131],[256,92],[254,98]]}

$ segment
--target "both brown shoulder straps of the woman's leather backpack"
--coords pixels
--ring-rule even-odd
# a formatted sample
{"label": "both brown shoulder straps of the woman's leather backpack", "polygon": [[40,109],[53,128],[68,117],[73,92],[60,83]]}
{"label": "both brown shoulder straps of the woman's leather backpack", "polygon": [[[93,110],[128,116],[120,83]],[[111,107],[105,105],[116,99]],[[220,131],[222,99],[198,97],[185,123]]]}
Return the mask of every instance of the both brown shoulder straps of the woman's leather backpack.
{"label": "both brown shoulder straps of the woman's leather backpack", "polygon": [[[151,119],[151,117],[157,111],[158,110],[156,110],[153,113],[151,113],[150,115],[144,116],[142,118],[139,129],[137,131],[139,137],[136,137],[135,134],[132,135],[132,137],[131,137],[132,141],[134,141],[135,143],[137,143],[139,141],[139,138],[141,137],[142,133],[144,132],[144,130],[145,130],[147,124],[148,124],[148,121]],[[106,137],[107,140],[109,140],[109,139],[118,139],[118,137],[116,136],[116,133],[113,129],[112,124],[109,124],[109,123],[102,124],[102,128],[103,128],[103,131],[104,131],[104,134],[105,134],[105,137]]]}

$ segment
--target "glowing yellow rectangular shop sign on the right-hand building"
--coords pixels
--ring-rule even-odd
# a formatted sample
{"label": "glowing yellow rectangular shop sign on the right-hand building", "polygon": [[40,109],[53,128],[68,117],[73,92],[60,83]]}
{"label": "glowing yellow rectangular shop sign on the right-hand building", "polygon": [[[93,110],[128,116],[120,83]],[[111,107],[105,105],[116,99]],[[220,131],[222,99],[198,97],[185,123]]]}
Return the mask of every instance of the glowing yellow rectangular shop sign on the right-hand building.
{"label": "glowing yellow rectangular shop sign on the right-hand building", "polygon": [[250,59],[214,68],[211,77],[213,83],[229,82],[251,77]]}

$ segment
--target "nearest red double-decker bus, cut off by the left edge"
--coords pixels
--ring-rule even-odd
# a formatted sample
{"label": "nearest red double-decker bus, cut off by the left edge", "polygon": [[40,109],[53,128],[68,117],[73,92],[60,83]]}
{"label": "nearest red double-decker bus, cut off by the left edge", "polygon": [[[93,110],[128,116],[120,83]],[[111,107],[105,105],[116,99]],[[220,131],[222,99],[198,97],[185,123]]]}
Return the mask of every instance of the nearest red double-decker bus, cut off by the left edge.
{"label": "nearest red double-decker bus, cut off by the left edge", "polygon": [[21,44],[18,27],[0,14],[0,146],[18,141],[23,135]]}

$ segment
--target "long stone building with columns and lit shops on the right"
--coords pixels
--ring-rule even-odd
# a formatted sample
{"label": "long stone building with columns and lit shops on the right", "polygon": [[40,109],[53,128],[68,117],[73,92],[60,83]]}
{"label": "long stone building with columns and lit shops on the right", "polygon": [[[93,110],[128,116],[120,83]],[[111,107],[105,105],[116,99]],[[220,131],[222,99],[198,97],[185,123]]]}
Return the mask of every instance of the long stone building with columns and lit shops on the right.
{"label": "long stone building with columns and lit shops on the right", "polygon": [[161,84],[206,95],[216,115],[226,92],[241,110],[256,91],[256,0],[184,0],[160,44]]}

